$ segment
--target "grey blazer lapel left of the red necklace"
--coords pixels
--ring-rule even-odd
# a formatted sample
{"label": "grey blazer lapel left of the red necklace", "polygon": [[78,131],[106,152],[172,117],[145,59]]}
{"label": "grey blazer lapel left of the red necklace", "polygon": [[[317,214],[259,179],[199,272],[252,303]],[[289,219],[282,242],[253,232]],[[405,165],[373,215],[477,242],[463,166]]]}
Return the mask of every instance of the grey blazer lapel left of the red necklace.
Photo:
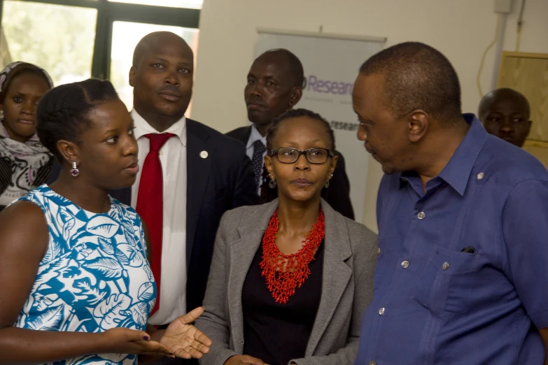
{"label": "grey blazer lapel left of the red necklace", "polygon": [[241,291],[244,287],[249,267],[257,253],[262,236],[268,227],[268,222],[278,208],[278,199],[257,206],[247,219],[238,227],[240,239],[230,243],[230,272],[228,278],[228,308],[230,313],[230,329],[234,349],[244,351],[244,312],[241,308]]}

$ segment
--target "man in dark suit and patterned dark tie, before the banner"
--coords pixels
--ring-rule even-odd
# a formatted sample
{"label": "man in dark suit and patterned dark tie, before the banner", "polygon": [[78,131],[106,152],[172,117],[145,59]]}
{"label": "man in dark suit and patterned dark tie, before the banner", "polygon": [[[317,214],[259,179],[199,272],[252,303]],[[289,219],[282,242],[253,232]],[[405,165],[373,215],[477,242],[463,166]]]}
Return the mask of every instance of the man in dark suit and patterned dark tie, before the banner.
{"label": "man in dark suit and patterned dark tie, before the banner", "polygon": [[[255,189],[260,191],[262,164],[266,155],[266,136],[276,117],[293,108],[302,96],[304,71],[302,63],[292,52],[284,49],[269,50],[251,65],[244,89],[248,120],[253,125],[227,133],[246,144],[255,174]],[[350,183],[344,168],[344,157],[339,157],[328,189],[322,197],[342,215],[354,219],[350,201]]]}

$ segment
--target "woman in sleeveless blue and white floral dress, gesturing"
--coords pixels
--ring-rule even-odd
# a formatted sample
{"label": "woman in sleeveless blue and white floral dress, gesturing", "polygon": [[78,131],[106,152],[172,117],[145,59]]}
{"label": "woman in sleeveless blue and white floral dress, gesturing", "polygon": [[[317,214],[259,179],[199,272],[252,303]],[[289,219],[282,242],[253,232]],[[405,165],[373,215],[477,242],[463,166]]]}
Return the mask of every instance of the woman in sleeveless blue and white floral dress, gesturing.
{"label": "woman in sleeveless blue and white floral dress, gesturing", "polygon": [[132,118],[111,83],[57,87],[37,116],[63,171],[0,213],[0,364],[201,357],[211,341],[190,322],[202,308],[164,331],[147,326],[156,287],[146,226],[108,196],[139,171]]}

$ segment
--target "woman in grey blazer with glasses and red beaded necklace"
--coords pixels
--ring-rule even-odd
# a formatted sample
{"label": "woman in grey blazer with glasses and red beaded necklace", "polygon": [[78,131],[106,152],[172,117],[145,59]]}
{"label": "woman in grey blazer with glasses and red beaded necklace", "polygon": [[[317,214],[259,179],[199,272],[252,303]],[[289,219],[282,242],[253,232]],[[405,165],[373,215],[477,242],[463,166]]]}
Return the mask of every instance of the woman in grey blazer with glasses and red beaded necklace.
{"label": "woman in grey blazer with glasses and red beaded necklace", "polygon": [[337,164],[320,115],[282,115],[267,150],[279,199],[220,222],[195,324],[213,341],[200,364],[351,365],[372,299],[377,235],[320,197]]}

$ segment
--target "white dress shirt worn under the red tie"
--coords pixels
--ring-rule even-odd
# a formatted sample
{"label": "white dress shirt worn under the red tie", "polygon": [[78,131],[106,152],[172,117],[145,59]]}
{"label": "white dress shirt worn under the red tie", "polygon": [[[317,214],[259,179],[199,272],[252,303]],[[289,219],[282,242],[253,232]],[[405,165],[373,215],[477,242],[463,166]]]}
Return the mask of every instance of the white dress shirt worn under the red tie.
{"label": "white dress shirt worn under the red tie", "polygon": [[[132,110],[135,138],[139,145],[139,173],[132,187],[132,207],[137,206],[143,164],[150,149],[145,134],[160,133]],[[175,134],[160,149],[164,179],[164,221],[162,232],[162,277],[160,308],[150,324],[169,324],[186,313],[186,119],[183,117],[163,133]]]}

